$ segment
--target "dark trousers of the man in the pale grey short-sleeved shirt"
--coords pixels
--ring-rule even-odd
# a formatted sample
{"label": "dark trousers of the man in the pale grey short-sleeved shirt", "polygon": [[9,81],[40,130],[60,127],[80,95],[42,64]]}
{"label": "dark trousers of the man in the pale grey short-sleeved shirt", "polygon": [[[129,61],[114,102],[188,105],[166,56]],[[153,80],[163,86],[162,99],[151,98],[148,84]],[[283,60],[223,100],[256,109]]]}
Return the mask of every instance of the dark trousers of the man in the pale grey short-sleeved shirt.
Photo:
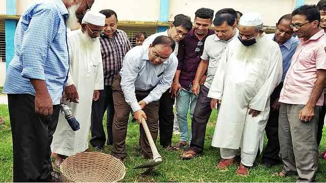
{"label": "dark trousers of the man in the pale grey short-sleeved shirt", "polygon": [[201,153],[204,149],[206,126],[212,112],[210,108],[211,98],[207,97],[208,91],[209,88],[204,85],[201,86],[192,120],[193,137],[190,148],[196,153]]}

